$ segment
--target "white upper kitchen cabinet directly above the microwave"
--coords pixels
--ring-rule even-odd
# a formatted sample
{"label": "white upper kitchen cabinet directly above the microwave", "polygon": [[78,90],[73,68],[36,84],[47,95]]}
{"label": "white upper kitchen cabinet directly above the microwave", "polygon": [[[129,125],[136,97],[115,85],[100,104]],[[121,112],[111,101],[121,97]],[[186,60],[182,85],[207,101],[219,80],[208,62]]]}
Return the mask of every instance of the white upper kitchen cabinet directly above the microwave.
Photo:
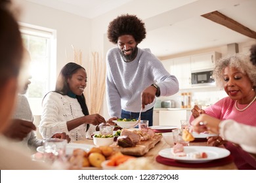
{"label": "white upper kitchen cabinet directly above the microwave", "polygon": [[217,59],[221,58],[218,52],[207,52],[191,56],[191,71],[201,71],[213,69]]}

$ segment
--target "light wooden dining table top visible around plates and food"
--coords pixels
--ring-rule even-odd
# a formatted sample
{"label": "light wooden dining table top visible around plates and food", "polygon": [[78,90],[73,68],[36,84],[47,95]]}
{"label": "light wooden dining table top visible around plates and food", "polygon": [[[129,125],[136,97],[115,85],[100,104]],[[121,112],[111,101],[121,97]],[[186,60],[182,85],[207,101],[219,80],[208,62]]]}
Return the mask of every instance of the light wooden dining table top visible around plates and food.
{"label": "light wooden dining table top visible around plates and food", "polygon": [[[77,141],[77,143],[82,144],[90,144],[93,145],[93,140],[86,139],[84,141]],[[207,142],[190,142],[190,146],[209,146]],[[237,167],[234,164],[234,162],[227,163],[225,165],[219,165],[215,167],[178,167],[178,166],[170,166],[170,165],[163,165],[162,163],[158,163],[156,161],[156,157],[158,156],[158,153],[160,150],[163,150],[165,148],[171,148],[169,144],[167,144],[164,139],[161,139],[154,148],[151,148],[146,154],[144,154],[144,158],[148,160],[149,163],[151,163],[153,169],[156,170],[236,170]],[[224,148],[224,146],[221,146],[220,148]]]}

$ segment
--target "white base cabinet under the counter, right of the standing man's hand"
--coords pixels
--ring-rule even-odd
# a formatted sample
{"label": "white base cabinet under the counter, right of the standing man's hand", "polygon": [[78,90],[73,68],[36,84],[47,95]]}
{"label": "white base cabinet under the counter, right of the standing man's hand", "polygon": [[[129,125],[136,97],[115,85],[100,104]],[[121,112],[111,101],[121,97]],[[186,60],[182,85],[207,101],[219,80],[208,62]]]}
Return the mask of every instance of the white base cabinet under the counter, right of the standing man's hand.
{"label": "white base cabinet under the counter, right of the standing man's hand", "polygon": [[159,110],[159,125],[181,126],[181,120],[186,120],[186,110]]}

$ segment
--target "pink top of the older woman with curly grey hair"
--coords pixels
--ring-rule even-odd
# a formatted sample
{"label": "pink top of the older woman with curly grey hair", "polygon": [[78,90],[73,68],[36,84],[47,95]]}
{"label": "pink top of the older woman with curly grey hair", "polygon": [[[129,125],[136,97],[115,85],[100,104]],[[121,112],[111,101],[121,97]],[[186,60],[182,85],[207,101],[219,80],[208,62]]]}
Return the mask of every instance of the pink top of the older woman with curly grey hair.
{"label": "pink top of the older woman with curly grey hair", "polygon": [[[238,108],[240,109],[245,107],[247,107],[247,105],[238,104]],[[225,97],[203,110],[205,110],[205,113],[209,116],[219,118],[220,120],[232,119],[240,124],[256,126],[256,102],[253,102],[251,106],[241,112],[236,109],[235,101],[230,99],[230,97]],[[191,115],[190,122],[192,122],[192,120],[194,120],[194,117]],[[234,146],[231,142],[226,143],[224,146],[226,149],[230,150],[238,169],[256,169],[255,159],[251,158],[242,148]]]}

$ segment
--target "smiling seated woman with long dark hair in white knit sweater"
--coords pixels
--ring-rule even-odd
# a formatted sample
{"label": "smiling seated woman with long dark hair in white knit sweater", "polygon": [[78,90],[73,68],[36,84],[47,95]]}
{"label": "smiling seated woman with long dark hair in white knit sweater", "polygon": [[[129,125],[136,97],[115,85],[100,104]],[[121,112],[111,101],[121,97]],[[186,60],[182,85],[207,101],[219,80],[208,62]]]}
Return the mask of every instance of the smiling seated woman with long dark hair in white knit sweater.
{"label": "smiling seated woman with long dark hair in white knit sweater", "polygon": [[100,114],[89,115],[83,95],[86,86],[87,73],[81,65],[67,63],[62,68],[55,91],[47,93],[43,99],[39,125],[43,138],[66,132],[71,142],[79,141],[89,137],[89,131],[95,131],[95,125],[106,123]]}

